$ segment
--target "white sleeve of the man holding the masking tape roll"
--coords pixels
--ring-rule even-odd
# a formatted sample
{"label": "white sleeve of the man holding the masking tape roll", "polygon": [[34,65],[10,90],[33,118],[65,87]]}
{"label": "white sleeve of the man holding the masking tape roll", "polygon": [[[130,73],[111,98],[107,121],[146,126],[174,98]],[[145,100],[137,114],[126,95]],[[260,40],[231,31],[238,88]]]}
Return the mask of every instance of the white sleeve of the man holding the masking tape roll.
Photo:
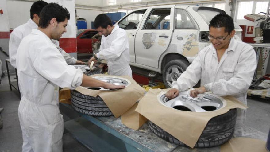
{"label": "white sleeve of the man holding the masking tape roll", "polygon": [[126,43],[128,43],[127,35],[125,31],[121,31],[117,33],[116,39],[111,42],[110,48],[103,49],[103,44],[101,45],[101,49],[99,49],[97,57],[100,59],[111,59],[120,57],[122,52],[125,51]]}

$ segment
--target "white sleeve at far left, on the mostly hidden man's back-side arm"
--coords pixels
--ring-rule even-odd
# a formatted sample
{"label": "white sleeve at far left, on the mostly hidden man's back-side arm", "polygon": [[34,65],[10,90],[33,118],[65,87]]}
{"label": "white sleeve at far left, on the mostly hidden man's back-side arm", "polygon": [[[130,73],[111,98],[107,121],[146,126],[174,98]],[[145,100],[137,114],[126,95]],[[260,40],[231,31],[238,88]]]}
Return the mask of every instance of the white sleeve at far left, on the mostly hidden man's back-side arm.
{"label": "white sleeve at far left, on the mostly hidden man's back-side arm", "polygon": [[10,56],[10,64],[16,67],[16,58],[17,58],[17,50],[21,43],[23,36],[20,33],[16,33],[16,31],[11,32],[10,40],[9,40],[9,56]]}

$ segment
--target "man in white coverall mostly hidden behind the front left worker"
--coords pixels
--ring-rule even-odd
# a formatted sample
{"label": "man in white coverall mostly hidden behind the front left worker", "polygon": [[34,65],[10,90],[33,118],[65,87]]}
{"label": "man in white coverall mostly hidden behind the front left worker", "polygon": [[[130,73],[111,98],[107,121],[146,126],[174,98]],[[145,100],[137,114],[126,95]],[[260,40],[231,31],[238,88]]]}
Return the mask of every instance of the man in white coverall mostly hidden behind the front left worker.
{"label": "man in white coverall mostly hidden behind the front left worker", "polygon": [[[36,1],[32,4],[30,8],[30,19],[27,23],[18,26],[15,28],[10,34],[9,41],[9,53],[10,53],[10,64],[16,67],[16,59],[17,59],[17,49],[21,40],[31,33],[32,29],[37,29],[39,24],[39,14],[44,6],[48,5],[47,2],[44,1]],[[62,48],[59,47],[59,42],[57,40],[52,40],[52,42],[57,46],[57,49],[63,55],[67,64],[84,64],[84,62],[71,57],[68,53],[66,53]]]}

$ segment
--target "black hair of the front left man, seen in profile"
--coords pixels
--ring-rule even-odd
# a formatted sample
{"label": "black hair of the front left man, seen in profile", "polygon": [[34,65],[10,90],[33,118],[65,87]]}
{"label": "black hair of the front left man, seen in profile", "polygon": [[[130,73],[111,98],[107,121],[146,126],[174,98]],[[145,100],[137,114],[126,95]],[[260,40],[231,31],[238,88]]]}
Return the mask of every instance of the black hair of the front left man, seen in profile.
{"label": "black hair of the front left man, seen in profile", "polygon": [[39,27],[45,29],[50,24],[52,18],[56,18],[56,21],[63,22],[65,19],[70,18],[69,12],[66,8],[60,6],[57,3],[49,3],[40,12]]}

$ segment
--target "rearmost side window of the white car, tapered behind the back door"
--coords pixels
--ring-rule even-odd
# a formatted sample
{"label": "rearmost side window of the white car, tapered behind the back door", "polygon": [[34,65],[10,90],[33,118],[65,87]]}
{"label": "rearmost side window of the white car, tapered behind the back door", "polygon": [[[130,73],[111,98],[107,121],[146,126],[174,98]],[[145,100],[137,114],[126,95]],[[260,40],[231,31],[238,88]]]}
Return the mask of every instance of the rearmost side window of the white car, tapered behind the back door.
{"label": "rearmost side window of the white car, tapered behind the back door", "polygon": [[176,26],[175,29],[196,29],[196,25],[191,20],[190,16],[185,10],[176,9],[175,13]]}

